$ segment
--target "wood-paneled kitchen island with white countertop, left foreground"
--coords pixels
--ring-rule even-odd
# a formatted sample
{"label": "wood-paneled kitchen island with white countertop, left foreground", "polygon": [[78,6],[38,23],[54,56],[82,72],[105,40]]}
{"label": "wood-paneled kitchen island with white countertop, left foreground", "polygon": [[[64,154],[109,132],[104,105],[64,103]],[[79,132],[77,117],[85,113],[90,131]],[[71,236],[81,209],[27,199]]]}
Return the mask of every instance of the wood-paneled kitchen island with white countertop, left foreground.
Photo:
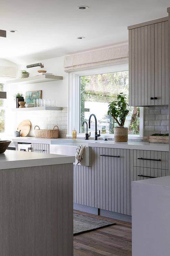
{"label": "wood-paneled kitchen island with white countertop, left foreground", "polygon": [[0,154],[0,255],[73,255],[74,157]]}

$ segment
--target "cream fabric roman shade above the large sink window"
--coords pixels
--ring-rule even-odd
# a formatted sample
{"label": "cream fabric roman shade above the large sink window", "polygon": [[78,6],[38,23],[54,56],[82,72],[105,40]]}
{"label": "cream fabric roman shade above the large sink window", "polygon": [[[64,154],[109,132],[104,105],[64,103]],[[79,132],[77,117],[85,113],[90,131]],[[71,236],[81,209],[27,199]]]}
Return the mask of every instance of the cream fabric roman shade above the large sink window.
{"label": "cream fabric roman shade above the large sink window", "polygon": [[73,72],[81,69],[123,63],[128,61],[128,44],[107,47],[64,58],[64,70]]}

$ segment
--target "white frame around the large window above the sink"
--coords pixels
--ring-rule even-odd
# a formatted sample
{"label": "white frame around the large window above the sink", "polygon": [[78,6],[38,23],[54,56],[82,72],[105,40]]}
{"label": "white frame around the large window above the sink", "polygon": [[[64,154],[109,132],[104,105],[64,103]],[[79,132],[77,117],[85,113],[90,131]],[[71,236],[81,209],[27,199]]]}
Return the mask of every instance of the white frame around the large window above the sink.
{"label": "white frame around the large window above the sink", "polygon": [[[72,136],[72,129],[77,130],[77,138],[84,138],[84,133],[79,133],[80,130],[80,76],[95,75],[101,73],[112,73],[118,71],[129,70],[128,62],[121,64],[100,66],[69,73],[69,97],[68,97],[68,134]],[[91,132],[91,137],[94,133]],[[114,134],[101,134],[100,138],[114,138]],[[128,135],[129,139],[143,139],[143,107],[140,107],[140,124],[139,135]]]}

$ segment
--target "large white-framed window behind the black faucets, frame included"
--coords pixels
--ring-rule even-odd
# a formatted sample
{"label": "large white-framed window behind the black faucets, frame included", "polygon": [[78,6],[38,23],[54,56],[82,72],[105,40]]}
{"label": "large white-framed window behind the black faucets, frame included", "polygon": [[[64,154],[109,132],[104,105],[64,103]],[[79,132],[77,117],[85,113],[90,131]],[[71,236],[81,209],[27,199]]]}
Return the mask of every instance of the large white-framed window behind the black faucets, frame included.
{"label": "large white-framed window behind the black faucets, frame included", "polygon": [[[79,74],[78,74],[79,73]],[[81,74],[82,73],[82,74]],[[89,120],[93,113],[97,117],[97,128],[101,137],[114,137],[113,128],[117,123],[107,115],[109,102],[117,99],[117,94],[129,94],[128,64],[101,67],[98,70],[86,70],[69,74],[69,135],[73,127],[78,137],[83,137],[86,126],[83,121]],[[71,100],[72,97],[72,100]],[[71,104],[70,104],[71,103]],[[143,137],[143,107],[128,107],[129,115],[125,126],[129,128],[129,138]],[[77,115],[75,115],[75,113]],[[76,116],[76,117],[74,117]],[[94,137],[95,122],[91,119],[91,137]]]}

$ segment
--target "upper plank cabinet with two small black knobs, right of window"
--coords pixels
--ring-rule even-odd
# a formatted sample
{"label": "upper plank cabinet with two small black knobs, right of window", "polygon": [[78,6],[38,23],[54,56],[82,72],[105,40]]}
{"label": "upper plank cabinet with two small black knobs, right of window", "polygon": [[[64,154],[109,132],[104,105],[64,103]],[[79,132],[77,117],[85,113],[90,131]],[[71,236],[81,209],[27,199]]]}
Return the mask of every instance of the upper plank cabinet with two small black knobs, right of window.
{"label": "upper plank cabinet with two small black knobs, right of window", "polygon": [[128,30],[129,106],[169,104],[168,17]]}

